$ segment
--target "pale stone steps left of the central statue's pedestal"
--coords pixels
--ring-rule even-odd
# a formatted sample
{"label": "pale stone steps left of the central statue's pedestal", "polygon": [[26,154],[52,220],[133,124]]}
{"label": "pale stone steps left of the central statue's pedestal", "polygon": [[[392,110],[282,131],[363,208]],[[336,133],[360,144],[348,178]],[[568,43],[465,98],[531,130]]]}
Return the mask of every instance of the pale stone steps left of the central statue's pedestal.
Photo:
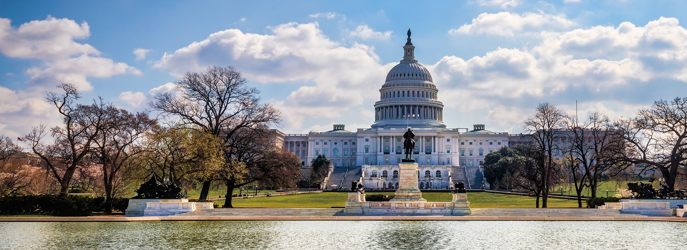
{"label": "pale stone steps left of the central statue's pedestal", "polygon": [[216,208],[174,216],[341,216],[343,208]]}

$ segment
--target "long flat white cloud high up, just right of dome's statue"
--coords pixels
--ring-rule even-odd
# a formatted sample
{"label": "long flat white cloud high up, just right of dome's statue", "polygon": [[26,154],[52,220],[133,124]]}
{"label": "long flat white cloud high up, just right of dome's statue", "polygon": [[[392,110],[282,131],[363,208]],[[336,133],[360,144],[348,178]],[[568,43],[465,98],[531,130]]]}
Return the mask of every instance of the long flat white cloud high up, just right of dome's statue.
{"label": "long flat white cloud high up, just right of dome's statue", "polygon": [[514,36],[526,30],[537,30],[544,27],[565,29],[575,26],[576,23],[568,20],[565,14],[545,14],[511,12],[482,13],[458,29],[449,30],[449,34],[488,34],[497,36]]}

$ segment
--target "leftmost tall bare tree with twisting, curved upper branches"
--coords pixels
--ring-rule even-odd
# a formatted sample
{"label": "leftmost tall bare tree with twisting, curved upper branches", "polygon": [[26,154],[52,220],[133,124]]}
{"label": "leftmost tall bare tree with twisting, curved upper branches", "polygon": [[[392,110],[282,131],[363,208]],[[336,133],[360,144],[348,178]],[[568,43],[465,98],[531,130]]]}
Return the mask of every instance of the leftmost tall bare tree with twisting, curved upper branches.
{"label": "leftmost tall bare tree with twisting, curved upper branches", "polygon": [[62,115],[62,126],[50,130],[54,141],[47,142],[47,133],[42,124],[32,127],[31,132],[23,137],[34,154],[45,161],[52,177],[60,183],[60,193],[66,193],[75,172],[92,151],[93,140],[100,134],[103,124],[108,122],[105,112],[108,104],[102,98],[94,100],[91,105],[77,104],[81,95],[74,84],[62,83],[57,87],[64,93],[50,92],[46,97]]}

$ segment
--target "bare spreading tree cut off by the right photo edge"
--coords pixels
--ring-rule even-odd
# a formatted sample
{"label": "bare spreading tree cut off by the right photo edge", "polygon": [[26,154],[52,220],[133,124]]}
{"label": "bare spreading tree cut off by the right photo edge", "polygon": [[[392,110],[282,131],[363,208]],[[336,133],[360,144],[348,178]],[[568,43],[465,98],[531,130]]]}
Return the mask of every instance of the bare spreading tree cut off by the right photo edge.
{"label": "bare spreading tree cut off by the right photo edge", "polygon": [[644,166],[642,171],[659,170],[675,189],[679,172],[687,166],[687,98],[656,101],[614,127],[624,139],[623,160]]}

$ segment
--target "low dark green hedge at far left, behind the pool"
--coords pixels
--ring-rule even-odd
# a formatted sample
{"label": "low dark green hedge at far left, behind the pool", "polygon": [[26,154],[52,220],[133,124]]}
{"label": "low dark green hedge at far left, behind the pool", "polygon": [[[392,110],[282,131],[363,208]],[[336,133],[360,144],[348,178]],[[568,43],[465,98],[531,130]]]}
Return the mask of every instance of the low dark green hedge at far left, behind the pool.
{"label": "low dark green hedge at far left, behind the pool", "polygon": [[[105,198],[80,195],[39,194],[0,197],[0,214],[49,214],[52,216],[90,216],[106,210]],[[114,198],[113,209],[124,212],[128,198]]]}

